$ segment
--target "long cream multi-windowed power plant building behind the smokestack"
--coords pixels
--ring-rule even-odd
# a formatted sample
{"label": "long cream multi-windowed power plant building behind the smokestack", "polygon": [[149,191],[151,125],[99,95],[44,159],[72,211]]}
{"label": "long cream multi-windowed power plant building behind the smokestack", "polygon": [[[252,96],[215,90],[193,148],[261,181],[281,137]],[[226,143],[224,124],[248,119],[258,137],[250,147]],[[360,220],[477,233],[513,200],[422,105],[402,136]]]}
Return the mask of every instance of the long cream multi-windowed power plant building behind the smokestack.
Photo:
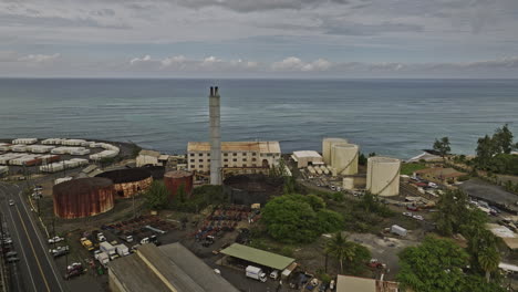
{"label": "long cream multi-windowed power plant building behind the smokestack", "polygon": [[[281,157],[279,142],[221,142],[221,167],[271,167]],[[210,144],[189,142],[187,163],[190,171],[210,170]]]}

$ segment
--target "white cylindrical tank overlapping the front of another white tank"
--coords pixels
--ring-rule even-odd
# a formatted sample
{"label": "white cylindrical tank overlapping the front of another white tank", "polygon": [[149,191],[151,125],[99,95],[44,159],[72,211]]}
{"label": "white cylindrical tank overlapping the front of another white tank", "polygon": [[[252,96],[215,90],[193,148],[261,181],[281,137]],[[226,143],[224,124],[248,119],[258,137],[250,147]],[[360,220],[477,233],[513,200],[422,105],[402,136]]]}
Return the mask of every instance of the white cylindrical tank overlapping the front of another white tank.
{"label": "white cylindrical tank overlapping the front of another white tank", "polygon": [[354,144],[336,143],[331,146],[331,166],[338,175],[358,174],[359,147]]}

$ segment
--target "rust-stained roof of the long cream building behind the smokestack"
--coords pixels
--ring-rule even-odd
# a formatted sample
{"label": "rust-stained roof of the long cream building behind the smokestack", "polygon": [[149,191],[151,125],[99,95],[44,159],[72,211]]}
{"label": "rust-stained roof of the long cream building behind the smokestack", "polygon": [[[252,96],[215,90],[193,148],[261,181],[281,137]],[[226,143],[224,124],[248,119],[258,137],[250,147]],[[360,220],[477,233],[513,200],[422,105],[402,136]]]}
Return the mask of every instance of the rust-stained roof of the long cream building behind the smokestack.
{"label": "rust-stained roof of the long cream building behind the smokestack", "polygon": [[[187,152],[210,152],[208,142],[189,142]],[[280,154],[279,142],[221,142],[221,152],[258,152]]]}

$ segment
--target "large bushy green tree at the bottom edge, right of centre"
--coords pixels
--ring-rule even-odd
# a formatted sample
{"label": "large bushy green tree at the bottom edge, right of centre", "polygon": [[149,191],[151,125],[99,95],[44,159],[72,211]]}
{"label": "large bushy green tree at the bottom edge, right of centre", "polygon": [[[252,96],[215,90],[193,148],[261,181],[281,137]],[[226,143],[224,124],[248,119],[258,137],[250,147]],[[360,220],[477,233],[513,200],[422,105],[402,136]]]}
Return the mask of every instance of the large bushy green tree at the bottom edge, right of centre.
{"label": "large bushy green tree at the bottom edge, right of centre", "polygon": [[425,238],[417,247],[400,253],[397,281],[403,289],[419,292],[465,292],[463,268],[469,255],[447,239]]}

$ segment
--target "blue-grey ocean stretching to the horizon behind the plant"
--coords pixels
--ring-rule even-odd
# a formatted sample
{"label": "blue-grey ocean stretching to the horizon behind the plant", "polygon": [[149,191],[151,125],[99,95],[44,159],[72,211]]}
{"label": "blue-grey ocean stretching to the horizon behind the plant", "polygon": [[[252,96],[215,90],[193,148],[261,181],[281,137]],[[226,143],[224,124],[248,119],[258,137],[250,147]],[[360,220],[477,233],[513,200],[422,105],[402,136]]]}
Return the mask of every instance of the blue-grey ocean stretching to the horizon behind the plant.
{"label": "blue-grey ocean stretching to the horizon behind the plant", "polygon": [[410,158],[448,136],[454,153],[508,123],[518,136],[517,80],[0,79],[0,138],[134,142],[185,153],[208,139],[209,86],[222,140],[279,140],[283,153],[344,137],[363,153]]}

